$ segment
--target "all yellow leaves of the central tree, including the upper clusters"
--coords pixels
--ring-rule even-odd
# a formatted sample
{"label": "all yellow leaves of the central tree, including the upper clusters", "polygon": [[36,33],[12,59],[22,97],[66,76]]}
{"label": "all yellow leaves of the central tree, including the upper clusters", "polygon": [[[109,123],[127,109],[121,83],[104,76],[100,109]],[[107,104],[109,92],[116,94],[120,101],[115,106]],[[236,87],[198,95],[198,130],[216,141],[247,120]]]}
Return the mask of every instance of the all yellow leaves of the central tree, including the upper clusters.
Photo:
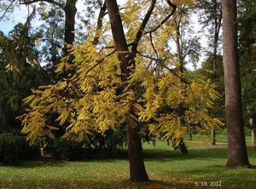
{"label": "all yellow leaves of the central tree, including the upper clusters", "polygon": [[[127,12],[122,14],[128,27],[127,41],[132,40],[138,27],[131,17],[139,17],[143,9],[138,4],[129,3]],[[164,7],[160,4],[158,13],[161,9]],[[126,17],[131,11],[132,16]],[[156,14],[154,16],[160,19]],[[154,26],[153,22],[148,24],[148,28],[151,26]],[[106,45],[113,43],[105,35],[107,32],[102,33]],[[212,83],[201,79],[179,83],[175,70],[169,72],[172,71],[170,67],[177,66],[177,63],[168,55],[168,49],[158,45],[168,43],[166,30],[160,29],[154,35],[151,40],[147,36],[143,37],[142,44],[151,41],[151,45],[138,48],[147,55],[141,54],[135,58],[137,66],[125,84],[125,89],[122,89],[124,85],[120,77],[118,54],[111,48],[99,50],[91,43],[92,37],[88,37],[86,43],[74,47],[71,53],[75,57],[73,64],[63,60],[56,72],[72,70],[76,73],[55,85],[33,89],[33,94],[25,99],[30,108],[20,119],[22,133],[27,135],[27,140],[34,143],[44,137],[53,139],[58,129],[64,131],[64,138],[89,140],[91,135],[105,135],[108,130],[116,130],[124,123],[134,127],[137,124],[145,125],[151,135],[178,140],[188,124],[201,127],[218,127],[222,124],[207,115],[213,101],[218,98]],[[159,52],[155,60],[153,43]],[[153,60],[148,61],[147,57],[153,57]],[[134,88],[135,85],[137,87]],[[179,93],[180,90],[183,93]],[[184,110],[183,127],[177,129],[175,115],[181,101],[187,109]],[[165,112],[165,107],[169,111]],[[57,123],[49,122],[49,116],[52,115],[55,115]]]}

